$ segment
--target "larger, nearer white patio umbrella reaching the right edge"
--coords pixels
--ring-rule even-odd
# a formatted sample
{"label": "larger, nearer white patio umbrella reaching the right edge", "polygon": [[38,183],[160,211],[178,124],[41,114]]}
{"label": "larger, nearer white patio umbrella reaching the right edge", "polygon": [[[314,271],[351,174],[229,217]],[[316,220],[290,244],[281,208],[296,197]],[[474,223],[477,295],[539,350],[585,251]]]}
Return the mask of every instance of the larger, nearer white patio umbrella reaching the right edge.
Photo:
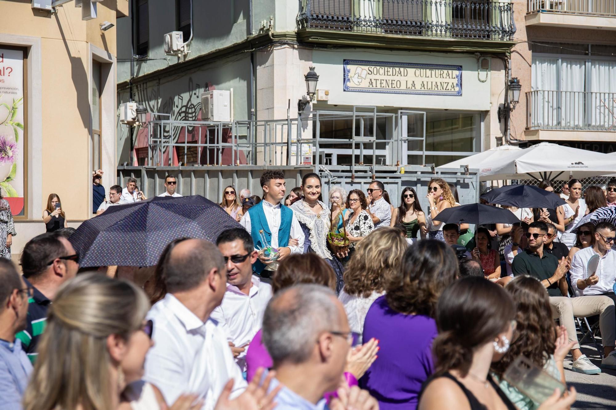
{"label": "larger, nearer white patio umbrella reaching the right edge", "polygon": [[[616,172],[613,156],[578,148],[541,142],[521,151],[511,151],[498,159],[494,167],[479,167],[482,181],[501,179],[569,180]],[[446,166],[443,166],[446,167]]]}

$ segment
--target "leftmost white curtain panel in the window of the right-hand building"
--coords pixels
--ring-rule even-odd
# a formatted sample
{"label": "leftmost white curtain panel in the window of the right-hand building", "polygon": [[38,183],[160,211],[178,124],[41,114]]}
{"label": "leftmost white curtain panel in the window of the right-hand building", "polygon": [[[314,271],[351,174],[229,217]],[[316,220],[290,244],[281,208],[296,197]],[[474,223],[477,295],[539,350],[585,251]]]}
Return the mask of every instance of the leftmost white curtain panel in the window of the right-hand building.
{"label": "leftmost white curtain panel in the window of the right-hand building", "polygon": [[530,107],[531,126],[556,126],[558,122],[558,60],[533,58],[530,89],[533,92]]}

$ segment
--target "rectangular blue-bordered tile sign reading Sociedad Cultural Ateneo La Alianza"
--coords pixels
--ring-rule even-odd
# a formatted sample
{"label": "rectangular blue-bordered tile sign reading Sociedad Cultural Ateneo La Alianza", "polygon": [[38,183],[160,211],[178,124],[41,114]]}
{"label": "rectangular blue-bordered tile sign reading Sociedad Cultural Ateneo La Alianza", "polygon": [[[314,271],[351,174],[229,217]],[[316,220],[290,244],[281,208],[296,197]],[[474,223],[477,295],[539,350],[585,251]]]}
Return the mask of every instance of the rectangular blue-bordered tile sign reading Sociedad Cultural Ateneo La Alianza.
{"label": "rectangular blue-bordered tile sign reading Sociedad Cultural Ateneo La Alianza", "polygon": [[462,66],[344,60],[344,90],[462,95]]}

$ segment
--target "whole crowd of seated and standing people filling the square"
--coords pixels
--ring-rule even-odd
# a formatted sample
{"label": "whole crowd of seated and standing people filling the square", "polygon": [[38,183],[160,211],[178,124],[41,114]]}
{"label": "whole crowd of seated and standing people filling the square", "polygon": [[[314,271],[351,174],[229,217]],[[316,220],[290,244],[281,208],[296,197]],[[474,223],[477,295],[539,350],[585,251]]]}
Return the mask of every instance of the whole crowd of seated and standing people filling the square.
{"label": "whole crowd of seated and standing people filling the square", "polygon": [[[557,410],[576,399],[565,356],[573,371],[616,369],[616,228],[571,231],[591,208],[577,180],[564,206],[510,207],[521,222],[472,239],[435,220],[460,206],[442,179],[424,208],[413,188],[392,206],[378,180],[326,201],[318,174],[288,195],[280,171],[260,183],[262,196],[225,188],[219,206],[239,225],[216,243],[176,239],[131,275],[80,268],[50,195],[22,275],[0,259],[0,408]],[[176,177],[164,185],[179,196]],[[607,191],[599,207],[616,204],[616,180]],[[109,194],[97,214],[145,199],[133,179]],[[590,316],[600,366],[577,340],[575,318]],[[521,357],[557,388],[517,385]]]}

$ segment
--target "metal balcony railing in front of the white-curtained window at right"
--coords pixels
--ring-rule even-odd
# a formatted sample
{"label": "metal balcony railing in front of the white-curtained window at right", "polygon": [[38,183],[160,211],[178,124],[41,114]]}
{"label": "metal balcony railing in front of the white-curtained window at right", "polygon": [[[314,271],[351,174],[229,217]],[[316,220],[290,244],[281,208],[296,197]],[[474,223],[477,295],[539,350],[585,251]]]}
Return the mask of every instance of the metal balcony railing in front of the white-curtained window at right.
{"label": "metal balcony railing in front of the white-curtained window at right", "polygon": [[616,93],[527,92],[526,126],[529,129],[616,131]]}

